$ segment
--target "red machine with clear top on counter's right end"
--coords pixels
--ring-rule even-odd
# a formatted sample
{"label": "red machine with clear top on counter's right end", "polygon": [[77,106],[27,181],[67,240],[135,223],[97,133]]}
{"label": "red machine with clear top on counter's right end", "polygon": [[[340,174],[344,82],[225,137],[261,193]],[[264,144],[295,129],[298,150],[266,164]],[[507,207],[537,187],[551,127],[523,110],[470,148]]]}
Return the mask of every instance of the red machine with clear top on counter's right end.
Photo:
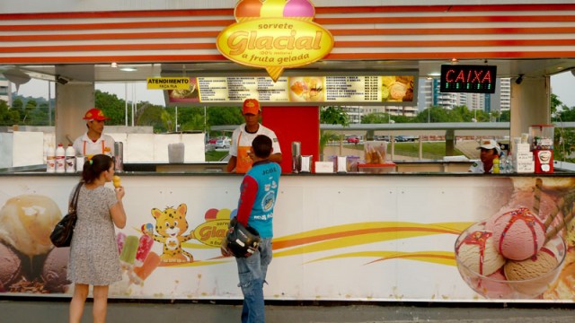
{"label": "red machine with clear top on counter's right end", "polygon": [[553,173],[553,125],[529,127],[531,151],[535,159],[535,173]]}

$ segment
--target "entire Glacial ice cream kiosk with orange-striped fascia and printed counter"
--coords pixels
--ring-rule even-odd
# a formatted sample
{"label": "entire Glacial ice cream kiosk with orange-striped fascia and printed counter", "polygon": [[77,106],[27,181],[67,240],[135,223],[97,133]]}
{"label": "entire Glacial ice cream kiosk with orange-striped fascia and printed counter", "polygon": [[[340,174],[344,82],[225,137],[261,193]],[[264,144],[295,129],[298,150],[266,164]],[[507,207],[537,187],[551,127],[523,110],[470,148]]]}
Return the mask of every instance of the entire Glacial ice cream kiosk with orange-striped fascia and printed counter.
{"label": "entire Glacial ice cream kiosk with orange-striped fascia and printed counter", "polygon": [[[575,176],[570,171],[553,173],[553,126],[546,125],[549,113],[541,109],[549,104],[549,76],[531,71],[543,63],[551,70],[555,57],[571,58],[569,68],[575,67],[575,49],[564,45],[571,41],[575,4],[491,0],[390,6],[362,0],[334,7],[324,0],[313,22],[315,11],[308,0],[243,0],[235,7],[231,0],[194,2],[189,9],[181,8],[184,2],[148,0],[143,1],[149,4],[146,10],[141,5],[124,8],[118,1],[77,6],[75,0],[62,0],[50,8],[32,2],[38,8],[22,4],[19,11],[0,13],[0,39],[21,43],[0,46],[0,64],[54,65],[54,73],[62,73],[58,78],[70,76],[72,67],[81,68],[74,73],[78,79],[55,82],[57,142],[70,129],[84,131],[84,123],[77,120],[85,109],[79,108],[93,103],[95,88],[92,79],[79,77],[111,71],[111,59],[117,65],[141,63],[140,76],[133,78],[160,74],[164,78],[158,84],[170,77],[194,84],[182,92],[163,90],[174,106],[239,106],[245,93],[257,90],[266,120],[262,125],[285,144],[281,151],[288,170],[274,206],[266,301],[575,302]],[[156,10],[148,10],[153,3]],[[164,10],[169,3],[172,10]],[[198,9],[200,3],[206,7]],[[374,5],[361,5],[366,3]],[[21,6],[10,4],[15,5]],[[50,12],[34,12],[39,10]],[[406,27],[414,20],[416,28]],[[143,28],[145,33],[138,32]],[[482,38],[467,39],[473,32],[481,32]],[[516,34],[521,36],[517,42],[507,40]],[[70,39],[65,40],[69,44],[50,40],[62,38]],[[77,46],[71,39],[78,40]],[[454,48],[461,63],[468,64],[452,60]],[[245,66],[226,65],[226,59]],[[507,66],[499,69],[500,77],[530,71],[523,83],[510,82],[515,91],[509,137],[517,144],[512,149],[516,171],[421,171],[419,164],[412,167],[417,171],[399,170],[403,161],[390,163],[394,158],[386,158],[387,143],[369,139],[362,143],[369,156],[365,163],[355,155],[336,156],[338,171],[320,163],[325,171],[318,174],[311,162],[320,152],[319,106],[359,101],[407,111],[411,103],[417,105],[418,79],[428,74],[424,67],[430,60],[437,67],[446,65],[446,78],[441,79],[450,92],[473,88],[491,94],[498,86],[491,66]],[[284,69],[291,71],[282,74]],[[458,130],[474,136],[483,131],[480,126],[507,129],[491,123]],[[428,124],[421,129],[423,135],[436,126],[443,134],[443,125]],[[531,137],[522,135],[517,141],[527,129]],[[222,257],[220,251],[237,214],[243,176],[219,171],[226,162],[170,165],[168,143],[173,141],[167,136],[176,134],[134,135],[142,146],[162,145],[164,153],[157,154],[162,160],[133,161],[131,138],[124,136],[128,141],[120,176],[128,216],[126,226],[117,229],[117,240],[111,241],[118,245],[122,276],[111,284],[110,297],[243,300],[235,259]],[[203,157],[204,140],[199,146]],[[185,147],[188,155],[192,149]],[[138,154],[151,155],[147,149]],[[290,154],[296,157],[295,167],[287,158]],[[353,164],[363,171],[350,171]],[[183,166],[194,169],[181,171]],[[48,237],[66,214],[79,179],[79,173],[49,173],[43,165],[0,171],[0,299],[72,297],[69,252],[54,248]],[[114,182],[119,184],[118,179]],[[516,275],[507,275],[506,267]]]}

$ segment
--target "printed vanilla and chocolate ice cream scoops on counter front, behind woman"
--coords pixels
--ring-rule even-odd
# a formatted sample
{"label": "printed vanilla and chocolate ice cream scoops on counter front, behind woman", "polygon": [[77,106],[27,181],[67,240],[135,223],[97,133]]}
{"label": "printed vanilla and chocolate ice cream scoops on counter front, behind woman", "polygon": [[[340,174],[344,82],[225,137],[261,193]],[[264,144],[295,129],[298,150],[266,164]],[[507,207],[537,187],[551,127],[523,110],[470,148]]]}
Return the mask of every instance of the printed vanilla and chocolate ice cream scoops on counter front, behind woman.
{"label": "printed vanilla and chocolate ice cream scoops on counter front, behind woman", "polygon": [[48,196],[9,198],[0,209],[0,292],[66,292],[68,248],[54,249],[49,234],[62,218]]}

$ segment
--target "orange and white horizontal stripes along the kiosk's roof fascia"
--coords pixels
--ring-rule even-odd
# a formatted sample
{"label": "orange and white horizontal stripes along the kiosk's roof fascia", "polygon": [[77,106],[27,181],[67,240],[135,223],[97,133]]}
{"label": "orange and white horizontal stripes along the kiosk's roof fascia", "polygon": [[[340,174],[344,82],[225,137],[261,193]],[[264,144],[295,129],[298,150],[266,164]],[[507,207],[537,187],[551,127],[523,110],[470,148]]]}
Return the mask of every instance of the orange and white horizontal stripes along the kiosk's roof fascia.
{"label": "orange and white horizontal stripes along the kiosk's roof fascia", "polygon": [[[234,10],[0,14],[0,64],[226,60]],[[316,7],[324,60],[575,57],[575,4]]]}

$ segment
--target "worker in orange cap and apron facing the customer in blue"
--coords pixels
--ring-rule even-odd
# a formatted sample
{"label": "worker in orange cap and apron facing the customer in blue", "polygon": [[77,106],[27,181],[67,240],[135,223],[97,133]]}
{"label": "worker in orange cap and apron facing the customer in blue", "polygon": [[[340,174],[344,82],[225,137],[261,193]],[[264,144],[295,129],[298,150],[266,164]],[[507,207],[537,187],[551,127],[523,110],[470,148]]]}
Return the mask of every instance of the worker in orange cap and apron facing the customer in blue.
{"label": "worker in orange cap and apron facing the customer in blue", "polygon": [[255,99],[243,101],[242,115],[245,123],[235,128],[230,146],[230,160],[227,162],[226,170],[237,173],[245,173],[252,168],[253,152],[252,141],[258,135],[267,135],[271,139],[273,148],[269,160],[281,163],[281,150],[279,149],[278,136],[268,127],[260,124],[261,107],[260,102]]}

